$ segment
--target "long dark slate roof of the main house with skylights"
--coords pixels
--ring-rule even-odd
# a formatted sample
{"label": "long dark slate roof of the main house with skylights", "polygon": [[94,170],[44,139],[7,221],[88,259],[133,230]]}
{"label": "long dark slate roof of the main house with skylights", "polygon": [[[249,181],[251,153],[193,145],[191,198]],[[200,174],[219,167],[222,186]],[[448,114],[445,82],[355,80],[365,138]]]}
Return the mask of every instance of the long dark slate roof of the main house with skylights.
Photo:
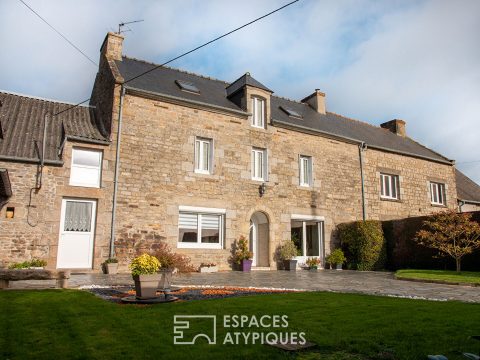
{"label": "long dark slate roof of the main house with skylights", "polygon": [[[157,66],[141,60],[123,57],[116,61],[122,77],[128,79],[150,70]],[[196,85],[200,94],[182,91],[175,84],[175,80],[188,81]],[[270,91],[248,73],[234,81],[228,82],[188,73],[170,67],[160,67],[138,79],[127,83],[128,87],[152,92],[160,95],[180,98],[186,101],[197,101],[230,110],[242,111],[234,102],[228,99],[238,90],[238,86],[249,84]],[[300,113],[303,118],[289,117],[279,107],[287,107]],[[274,125],[288,126],[299,131],[310,130],[338,138],[349,139],[356,142],[365,142],[369,147],[403,153],[405,155],[419,156],[440,162],[450,162],[446,157],[406,137],[395,135],[389,130],[374,126],[358,120],[353,120],[332,112],[325,115],[317,113],[305,103],[281,98],[271,97],[271,114]]]}

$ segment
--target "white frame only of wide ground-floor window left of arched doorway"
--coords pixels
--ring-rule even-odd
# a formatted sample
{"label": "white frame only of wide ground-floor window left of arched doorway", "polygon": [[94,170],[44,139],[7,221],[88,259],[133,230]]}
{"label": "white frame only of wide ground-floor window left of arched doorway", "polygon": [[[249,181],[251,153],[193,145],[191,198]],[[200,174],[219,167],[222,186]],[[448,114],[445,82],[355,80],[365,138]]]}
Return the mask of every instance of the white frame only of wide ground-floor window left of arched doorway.
{"label": "white frame only of wide ground-floor window left of arched doorway", "polygon": [[[178,249],[223,249],[225,241],[225,214],[226,209],[204,208],[194,206],[179,206],[178,214],[190,213],[197,215],[197,242],[181,242],[177,239]],[[217,215],[220,217],[219,221],[219,242],[218,244],[202,243],[202,214],[203,215]],[[180,221],[178,221],[178,231],[180,231]]]}

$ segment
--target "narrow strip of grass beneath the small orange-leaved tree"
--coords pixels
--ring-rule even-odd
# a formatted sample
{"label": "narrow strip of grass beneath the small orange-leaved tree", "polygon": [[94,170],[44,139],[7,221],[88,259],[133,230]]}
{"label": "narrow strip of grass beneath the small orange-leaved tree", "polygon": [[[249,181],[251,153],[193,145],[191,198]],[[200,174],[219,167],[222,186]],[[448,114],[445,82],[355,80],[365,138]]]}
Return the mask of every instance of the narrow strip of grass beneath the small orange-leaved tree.
{"label": "narrow strip of grass beneath the small orange-leaved tree", "polygon": [[440,281],[450,283],[468,283],[480,285],[480,272],[462,271],[456,273],[450,270],[398,270],[395,273],[399,279],[414,279]]}

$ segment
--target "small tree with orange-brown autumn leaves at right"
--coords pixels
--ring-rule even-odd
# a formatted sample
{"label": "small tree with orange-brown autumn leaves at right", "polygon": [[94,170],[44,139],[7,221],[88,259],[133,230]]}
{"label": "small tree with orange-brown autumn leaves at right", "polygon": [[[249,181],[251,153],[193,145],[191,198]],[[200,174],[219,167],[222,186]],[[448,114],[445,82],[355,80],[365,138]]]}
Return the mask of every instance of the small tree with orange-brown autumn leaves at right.
{"label": "small tree with orange-brown autumn leaves at right", "polygon": [[480,248],[480,225],[471,217],[454,210],[434,214],[423,222],[415,241],[438,250],[441,256],[454,258],[460,272],[462,257]]}

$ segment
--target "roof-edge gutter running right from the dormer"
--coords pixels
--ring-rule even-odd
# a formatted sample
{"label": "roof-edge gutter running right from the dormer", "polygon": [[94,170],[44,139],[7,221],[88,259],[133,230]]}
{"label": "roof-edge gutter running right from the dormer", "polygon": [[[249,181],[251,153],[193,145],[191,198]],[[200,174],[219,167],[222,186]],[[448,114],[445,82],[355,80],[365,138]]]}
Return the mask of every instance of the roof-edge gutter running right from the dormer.
{"label": "roof-edge gutter running right from the dormer", "polygon": [[[306,133],[309,133],[309,134],[324,135],[328,138],[335,139],[335,140],[341,140],[341,141],[344,141],[344,142],[350,143],[350,144],[361,145],[363,143],[363,141],[360,141],[360,140],[357,140],[357,139],[354,139],[354,138],[350,138],[350,137],[347,137],[347,136],[341,136],[341,135],[330,133],[328,131],[312,129],[312,128],[302,126],[302,125],[292,125],[292,124],[288,124],[288,123],[285,123],[285,122],[279,121],[279,120],[272,119],[272,124],[276,125],[278,127],[281,127],[281,128],[289,129],[289,130],[297,130],[298,131],[298,129],[300,129],[300,130],[303,130],[303,132],[306,132]],[[399,154],[399,155],[414,157],[414,158],[418,158],[418,159],[429,160],[429,161],[433,161],[433,162],[440,163],[440,164],[445,164],[445,165],[454,165],[455,164],[454,160],[448,160],[448,159],[447,160],[440,160],[440,159],[435,159],[435,158],[432,158],[432,157],[429,157],[429,156],[413,154],[413,153],[410,153],[408,151],[400,151],[400,150],[389,149],[389,148],[386,148],[386,147],[383,147],[383,146],[378,146],[378,145],[368,144],[368,147],[370,149],[374,149],[374,150],[381,150],[381,151],[386,151],[386,152],[393,153],[393,154]]]}

